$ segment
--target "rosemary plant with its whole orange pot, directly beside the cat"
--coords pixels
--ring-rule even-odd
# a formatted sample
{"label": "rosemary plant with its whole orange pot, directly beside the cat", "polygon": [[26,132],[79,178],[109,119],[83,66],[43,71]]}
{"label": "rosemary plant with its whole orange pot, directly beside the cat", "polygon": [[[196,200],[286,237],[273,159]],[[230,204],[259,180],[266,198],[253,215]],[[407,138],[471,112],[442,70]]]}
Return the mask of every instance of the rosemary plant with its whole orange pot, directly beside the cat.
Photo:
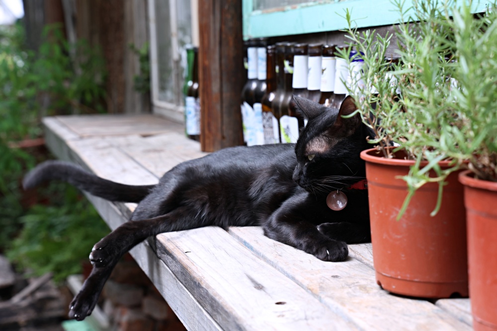
{"label": "rosemary plant with its whole orange pot, directly beside the cat", "polygon": [[[375,147],[361,153],[376,279],[403,295],[467,296],[466,220],[457,178],[467,155],[455,155],[468,138],[456,131],[466,125],[456,107],[463,99],[454,75],[464,64],[457,61],[459,36],[451,17],[463,9],[414,1],[407,17],[402,3],[397,5],[404,23],[384,37],[359,33],[347,12],[351,47],[340,54],[349,59],[349,93],[357,112],[376,133],[370,137]],[[470,38],[477,31],[466,33]],[[393,37],[399,47],[388,54]],[[358,53],[351,56],[352,46]],[[361,69],[354,58],[362,60]]]}

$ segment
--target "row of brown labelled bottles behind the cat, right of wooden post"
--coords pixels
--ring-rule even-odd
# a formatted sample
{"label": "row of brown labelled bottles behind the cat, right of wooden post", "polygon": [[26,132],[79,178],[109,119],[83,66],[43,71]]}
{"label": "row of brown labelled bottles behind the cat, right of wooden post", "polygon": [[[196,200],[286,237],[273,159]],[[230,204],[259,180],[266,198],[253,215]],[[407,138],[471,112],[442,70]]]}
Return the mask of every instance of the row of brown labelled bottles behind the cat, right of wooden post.
{"label": "row of brown labelled bottles behind the cat, right of wooden post", "polygon": [[292,111],[292,96],[339,108],[347,94],[348,66],[335,52],[345,46],[249,40],[248,80],[242,90],[244,140],[248,146],[296,142],[304,119]]}

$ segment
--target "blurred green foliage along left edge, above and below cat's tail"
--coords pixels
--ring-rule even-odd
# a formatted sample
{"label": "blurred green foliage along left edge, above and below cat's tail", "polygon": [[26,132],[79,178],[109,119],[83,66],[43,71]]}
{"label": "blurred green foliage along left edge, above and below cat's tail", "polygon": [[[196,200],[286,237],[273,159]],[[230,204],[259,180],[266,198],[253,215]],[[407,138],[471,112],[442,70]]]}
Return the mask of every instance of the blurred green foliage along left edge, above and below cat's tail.
{"label": "blurred green foliage along left edge, above and below cat's tail", "polygon": [[7,251],[36,274],[53,271],[60,280],[79,270],[108,229],[65,184],[25,193],[22,176],[53,157],[16,143],[41,137],[43,116],[104,112],[106,77],[100,52],[87,42],[70,45],[58,26],[47,27],[43,38],[38,52],[31,52],[21,24],[0,26],[0,253]]}

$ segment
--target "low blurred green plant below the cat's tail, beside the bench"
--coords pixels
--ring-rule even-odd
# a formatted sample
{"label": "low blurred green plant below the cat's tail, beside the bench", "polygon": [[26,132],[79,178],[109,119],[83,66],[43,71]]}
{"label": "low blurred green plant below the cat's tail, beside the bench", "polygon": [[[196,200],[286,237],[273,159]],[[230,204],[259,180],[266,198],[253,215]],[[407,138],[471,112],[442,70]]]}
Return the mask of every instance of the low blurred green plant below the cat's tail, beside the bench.
{"label": "low blurred green plant below the cat's tail, beside the bench", "polygon": [[33,275],[53,272],[60,282],[81,272],[81,262],[87,261],[90,248],[109,228],[76,189],[57,184],[49,191],[63,193],[64,199],[51,201],[50,206],[35,205],[19,218],[23,227],[7,257]]}

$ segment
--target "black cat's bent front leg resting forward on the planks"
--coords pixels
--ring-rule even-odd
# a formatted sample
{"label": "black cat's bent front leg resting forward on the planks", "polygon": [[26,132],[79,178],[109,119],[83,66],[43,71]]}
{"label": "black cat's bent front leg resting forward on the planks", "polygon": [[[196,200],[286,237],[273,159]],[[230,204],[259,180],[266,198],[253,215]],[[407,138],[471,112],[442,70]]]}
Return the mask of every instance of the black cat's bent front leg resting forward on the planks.
{"label": "black cat's bent front leg resting forward on the planks", "polygon": [[323,261],[344,261],[347,244],[321,233],[308,221],[312,199],[307,192],[296,194],[276,209],[263,224],[264,234],[274,240],[314,255]]}

